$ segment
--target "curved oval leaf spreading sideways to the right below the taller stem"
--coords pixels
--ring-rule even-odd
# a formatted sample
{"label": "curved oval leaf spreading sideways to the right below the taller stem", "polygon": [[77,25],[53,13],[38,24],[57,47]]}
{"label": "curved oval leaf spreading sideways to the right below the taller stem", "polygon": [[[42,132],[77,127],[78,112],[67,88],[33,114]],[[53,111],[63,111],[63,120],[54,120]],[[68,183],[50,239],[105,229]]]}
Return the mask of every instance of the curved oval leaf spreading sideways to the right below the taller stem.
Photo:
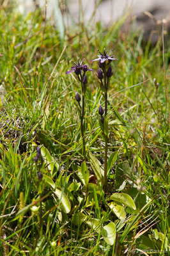
{"label": "curved oval leaf spreading sideways to the right below the taller stem", "polygon": [[126,205],[131,209],[136,209],[134,200],[131,196],[125,193],[114,193],[109,197],[109,200],[114,200],[120,204]]}

